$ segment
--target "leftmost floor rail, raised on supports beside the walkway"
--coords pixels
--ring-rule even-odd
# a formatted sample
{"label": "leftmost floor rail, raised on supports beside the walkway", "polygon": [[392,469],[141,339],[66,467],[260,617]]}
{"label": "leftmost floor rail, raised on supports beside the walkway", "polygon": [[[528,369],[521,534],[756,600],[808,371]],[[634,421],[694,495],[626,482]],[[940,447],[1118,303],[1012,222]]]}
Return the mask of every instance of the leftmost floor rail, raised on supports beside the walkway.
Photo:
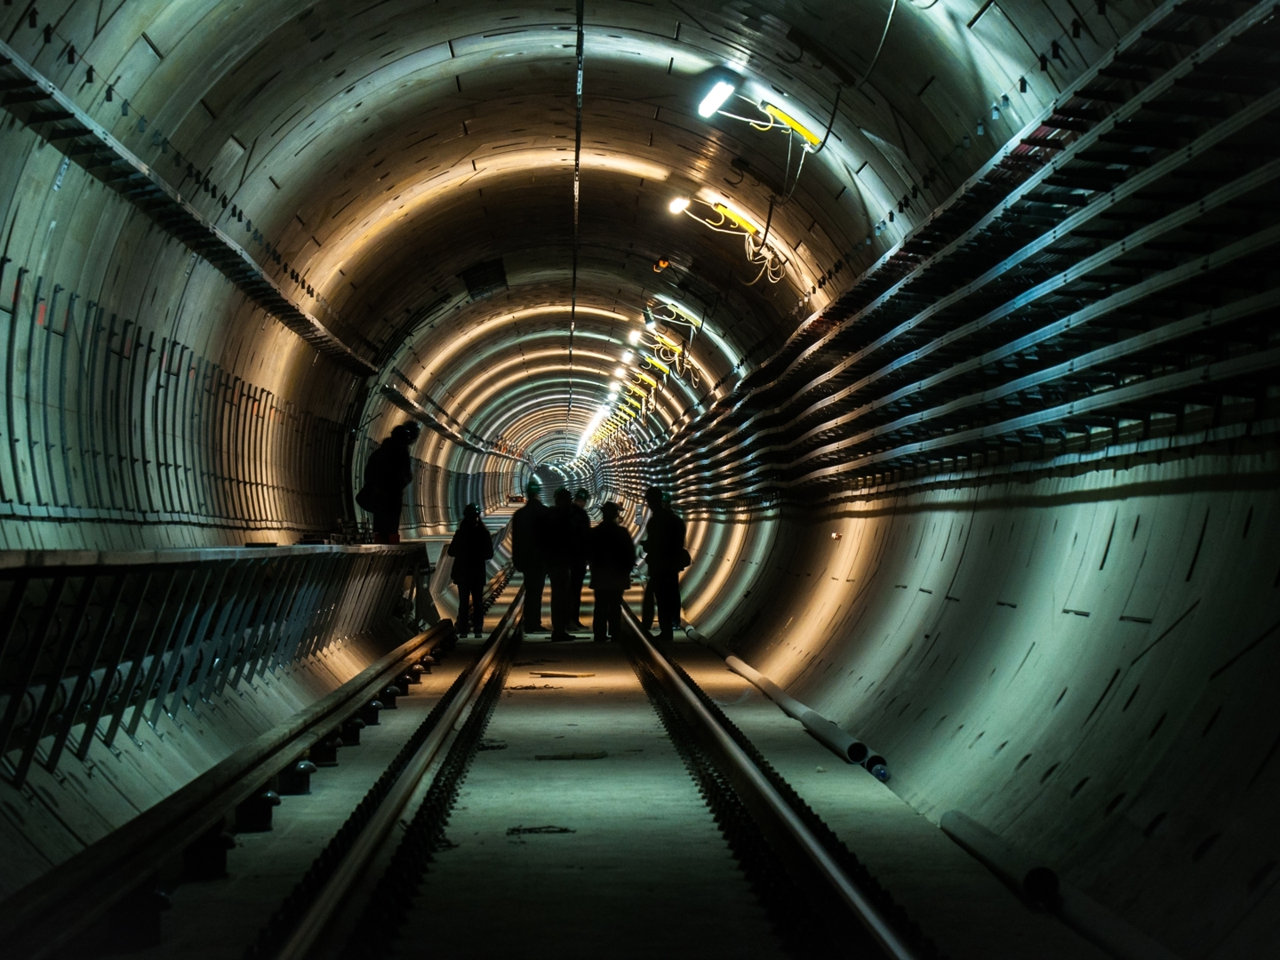
{"label": "leftmost floor rail, raised on supports beside the walkway", "polygon": [[157,865],[186,849],[292,758],[380,694],[404,663],[453,632],[443,622],[401,644],[337,690],[260,735],[155,806],[0,902],[0,943],[13,956],[50,956],[102,916]]}

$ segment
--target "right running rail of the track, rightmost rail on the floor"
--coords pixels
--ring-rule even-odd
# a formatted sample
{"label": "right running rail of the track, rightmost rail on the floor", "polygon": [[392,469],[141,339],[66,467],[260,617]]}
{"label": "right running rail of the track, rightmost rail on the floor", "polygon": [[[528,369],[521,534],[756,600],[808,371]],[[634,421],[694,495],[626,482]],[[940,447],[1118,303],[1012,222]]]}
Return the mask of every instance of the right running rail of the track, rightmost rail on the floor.
{"label": "right running rail of the track, rightmost rail on the floor", "polygon": [[635,636],[650,668],[668,692],[678,700],[681,712],[703,732],[707,746],[724,763],[726,776],[732,780],[735,787],[745,794],[744,800],[749,801],[748,805],[753,814],[768,817],[776,827],[785,832],[796,850],[831,884],[841,902],[861,922],[888,956],[896,960],[918,960],[916,952],[911,950],[879,908],[845,873],[827,847],[814,836],[809,826],[774,788],[760,768],[751,762],[742,748],[735,742],[733,737],[717,723],[667,658],[640,628],[630,608],[623,607],[622,620]]}

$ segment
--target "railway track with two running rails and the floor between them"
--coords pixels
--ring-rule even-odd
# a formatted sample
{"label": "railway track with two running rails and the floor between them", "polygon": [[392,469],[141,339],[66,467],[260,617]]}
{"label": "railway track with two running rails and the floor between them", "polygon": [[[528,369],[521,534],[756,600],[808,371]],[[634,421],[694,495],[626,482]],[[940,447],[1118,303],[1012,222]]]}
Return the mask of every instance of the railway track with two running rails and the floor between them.
{"label": "railway track with two running rails and the floor between them", "polygon": [[522,602],[246,957],[941,955],[634,620],[525,645]]}

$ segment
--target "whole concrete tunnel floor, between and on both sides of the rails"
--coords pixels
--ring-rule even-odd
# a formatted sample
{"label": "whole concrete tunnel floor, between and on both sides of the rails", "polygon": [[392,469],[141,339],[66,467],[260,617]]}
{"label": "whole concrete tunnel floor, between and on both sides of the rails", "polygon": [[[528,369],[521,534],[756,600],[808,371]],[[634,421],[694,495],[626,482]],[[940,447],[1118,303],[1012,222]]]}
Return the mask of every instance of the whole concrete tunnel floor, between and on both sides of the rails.
{"label": "whole concrete tunnel floor, between and on both sides of the rails", "polygon": [[[513,595],[517,584],[508,588]],[[582,621],[590,625],[591,594]],[[504,598],[506,599],[506,598]],[[640,593],[628,602],[639,609]],[[503,604],[486,617],[498,621]],[[549,591],[543,622],[550,622]],[[785,951],[622,650],[527,637],[458,796],[457,846],[429,868],[394,954],[416,957],[778,957]],[[460,643],[288,796],[270,833],[239,835],[229,877],[183,883],[147,960],[233,960],[252,942],[404,737],[480,649]],[[937,827],[844,764],[701,646],[667,645],[726,714],[954,960],[1101,957],[1027,910]],[[589,673],[538,677],[539,671]],[[543,828],[543,832],[526,832]],[[563,831],[563,832],[559,832]],[[495,909],[495,906],[498,909]]]}

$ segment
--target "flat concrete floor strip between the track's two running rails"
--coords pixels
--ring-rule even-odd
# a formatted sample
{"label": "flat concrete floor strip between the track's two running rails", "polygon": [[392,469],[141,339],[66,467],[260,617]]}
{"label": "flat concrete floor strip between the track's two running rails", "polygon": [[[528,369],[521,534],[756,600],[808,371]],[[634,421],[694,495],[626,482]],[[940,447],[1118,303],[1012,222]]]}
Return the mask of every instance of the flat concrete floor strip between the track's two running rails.
{"label": "flat concrete floor strip between the track's two running rails", "polygon": [[531,659],[595,676],[508,684],[396,955],[785,956],[622,650]]}

